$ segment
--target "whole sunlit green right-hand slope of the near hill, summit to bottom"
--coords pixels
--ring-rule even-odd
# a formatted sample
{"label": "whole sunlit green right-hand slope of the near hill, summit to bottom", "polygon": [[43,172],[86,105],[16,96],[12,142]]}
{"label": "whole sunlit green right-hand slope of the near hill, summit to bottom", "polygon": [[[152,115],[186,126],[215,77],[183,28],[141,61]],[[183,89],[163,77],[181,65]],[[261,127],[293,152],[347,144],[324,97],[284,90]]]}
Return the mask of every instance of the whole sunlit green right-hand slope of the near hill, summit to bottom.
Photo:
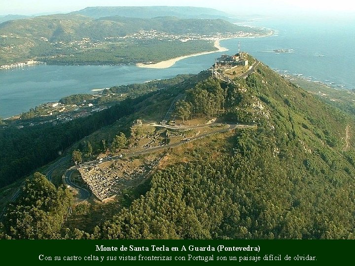
{"label": "whole sunlit green right-hand slope of the near hill, summit to bottom", "polygon": [[[180,111],[257,129],[226,134],[218,156],[199,152],[202,142],[212,151],[213,138],[191,142],[181,156],[192,160],[156,171],[146,193],[90,232],[62,227],[60,237],[355,238],[354,119],[262,64],[230,83],[203,75],[170,88],[171,98],[186,95]],[[23,235],[13,237],[35,238]]]}

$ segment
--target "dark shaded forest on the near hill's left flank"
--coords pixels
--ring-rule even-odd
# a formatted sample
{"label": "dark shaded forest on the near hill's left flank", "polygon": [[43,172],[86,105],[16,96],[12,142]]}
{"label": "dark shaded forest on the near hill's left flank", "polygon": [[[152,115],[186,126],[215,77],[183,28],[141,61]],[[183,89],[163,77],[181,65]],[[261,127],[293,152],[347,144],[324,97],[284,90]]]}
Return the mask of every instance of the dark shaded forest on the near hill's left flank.
{"label": "dark shaded forest on the near hill's left flank", "polygon": [[[138,102],[139,100],[137,100]],[[134,102],[134,100],[133,100]],[[0,130],[0,186],[11,184],[58,158],[84,136],[134,112],[131,99],[65,124]]]}

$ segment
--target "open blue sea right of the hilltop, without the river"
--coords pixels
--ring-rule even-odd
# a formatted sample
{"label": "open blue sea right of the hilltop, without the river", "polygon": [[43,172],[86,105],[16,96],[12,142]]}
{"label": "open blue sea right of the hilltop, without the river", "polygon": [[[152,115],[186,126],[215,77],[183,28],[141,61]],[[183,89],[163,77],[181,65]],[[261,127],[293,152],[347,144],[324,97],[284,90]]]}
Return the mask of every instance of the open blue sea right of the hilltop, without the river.
{"label": "open blue sea right of the hilltop, without the river", "polygon": [[[266,65],[335,88],[355,89],[355,18],[262,18],[249,25],[278,31],[268,38],[241,40],[242,50]],[[228,47],[233,44],[226,42]],[[274,51],[280,49],[293,51]]]}

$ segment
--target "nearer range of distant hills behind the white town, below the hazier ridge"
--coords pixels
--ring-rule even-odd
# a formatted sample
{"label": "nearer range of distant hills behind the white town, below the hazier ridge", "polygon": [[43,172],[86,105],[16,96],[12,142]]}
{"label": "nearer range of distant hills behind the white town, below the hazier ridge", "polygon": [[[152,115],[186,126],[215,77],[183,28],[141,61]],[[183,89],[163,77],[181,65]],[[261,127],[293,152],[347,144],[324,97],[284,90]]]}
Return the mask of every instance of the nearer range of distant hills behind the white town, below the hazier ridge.
{"label": "nearer range of distant hills behind the white town, below the hazier ridge", "polygon": [[55,14],[6,21],[0,25],[2,35],[30,36],[30,39],[45,37],[49,41],[67,41],[83,37],[102,39],[152,29],[173,34],[252,31],[248,27],[237,26],[222,19],[182,19],[173,16],[154,18],[106,16],[93,19],[78,14]]}

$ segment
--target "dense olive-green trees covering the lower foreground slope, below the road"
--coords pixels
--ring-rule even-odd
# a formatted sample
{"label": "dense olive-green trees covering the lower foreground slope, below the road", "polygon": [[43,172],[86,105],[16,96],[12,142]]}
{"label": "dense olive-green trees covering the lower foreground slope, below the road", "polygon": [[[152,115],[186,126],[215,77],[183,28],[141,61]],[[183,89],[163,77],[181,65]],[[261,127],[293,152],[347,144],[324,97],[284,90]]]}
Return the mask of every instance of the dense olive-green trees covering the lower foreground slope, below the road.
{"label": "dense olive-green trees covering the lower foreground slope, below the road", "polygon": [[286,168],[266,139],[250,140],[259,133],[237,135],[235,156],[157,173],[151,190],[106,222],[101,237],[354,238],[351,189],[302,164]]}

